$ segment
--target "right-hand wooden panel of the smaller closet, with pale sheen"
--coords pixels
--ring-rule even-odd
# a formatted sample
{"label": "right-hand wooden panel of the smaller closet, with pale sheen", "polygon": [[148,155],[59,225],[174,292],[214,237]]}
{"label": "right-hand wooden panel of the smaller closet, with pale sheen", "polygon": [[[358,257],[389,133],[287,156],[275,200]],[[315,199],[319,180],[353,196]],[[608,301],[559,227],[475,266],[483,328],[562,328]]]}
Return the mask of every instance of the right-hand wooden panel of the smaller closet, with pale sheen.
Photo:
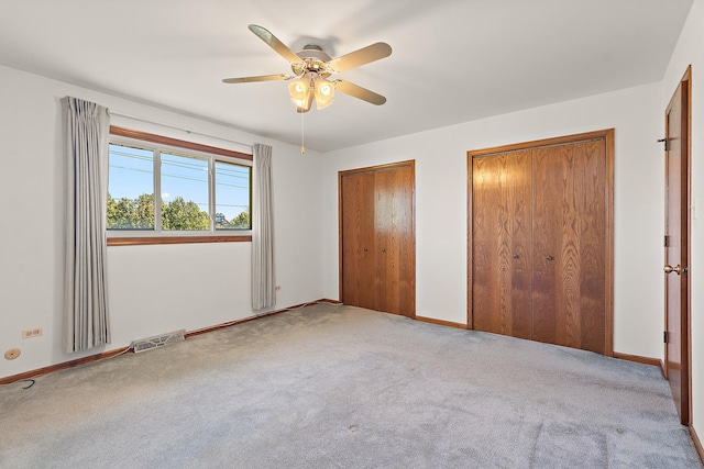
{"label": "right-hand wooden panel of the smaller closet, with pale sheen", "polygon": [[416,312],[414,179],[411,165],[375,172],[375,310],[410,317]]}

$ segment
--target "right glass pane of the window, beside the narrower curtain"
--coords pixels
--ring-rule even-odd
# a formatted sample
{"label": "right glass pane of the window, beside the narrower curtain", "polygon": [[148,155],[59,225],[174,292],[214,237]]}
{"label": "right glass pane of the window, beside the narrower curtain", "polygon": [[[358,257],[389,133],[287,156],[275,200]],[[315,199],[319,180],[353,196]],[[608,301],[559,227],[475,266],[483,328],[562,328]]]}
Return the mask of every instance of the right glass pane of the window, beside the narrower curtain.
{"label": "right glass pane of the window, beside the narrower curtain", "polygon": [[250,230],[252,168],[216,161],[216,228]]}

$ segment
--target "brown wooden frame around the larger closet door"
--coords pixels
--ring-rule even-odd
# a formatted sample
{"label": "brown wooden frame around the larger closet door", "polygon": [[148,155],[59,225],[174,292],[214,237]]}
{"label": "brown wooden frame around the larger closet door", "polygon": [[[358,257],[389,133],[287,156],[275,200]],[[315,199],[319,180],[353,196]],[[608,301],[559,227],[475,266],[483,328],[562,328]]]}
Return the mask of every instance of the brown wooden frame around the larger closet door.
{"label": "brown wooden frame around the larger closet door", "polygon": [[564,145],[590,139],[604,138],[606,143],[606,187],[604,190],[604,201],[606,204],[606,253],[604,254],[604,281],[605,281],[605,314],[604,314],[604,355],[614,356],[614,129],[605,129],[581,134],[564,135],[553,138],[544,138],[531,142],[522,142],[510,145],[502,145],[488,148],[473,149],[466,153],[468,165],[468,298],[466,298],[466,324],[469,330],[474,328],[472,312],[472,187],[473,187],[473,165],[474,157],[481,157],[501,153],[512,153],[521,149],[536,147]]}

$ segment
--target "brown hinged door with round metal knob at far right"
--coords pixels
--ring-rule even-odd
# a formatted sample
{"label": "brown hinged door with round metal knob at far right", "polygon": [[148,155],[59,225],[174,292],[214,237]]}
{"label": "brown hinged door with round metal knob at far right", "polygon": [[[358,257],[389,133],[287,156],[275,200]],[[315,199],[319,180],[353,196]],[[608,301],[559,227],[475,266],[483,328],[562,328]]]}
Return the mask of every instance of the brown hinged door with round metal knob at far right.
{"label": "brown hinged door with round metal knob at far right", "polygon": [[666,110],[666,376],[690,424],[689,69]]}

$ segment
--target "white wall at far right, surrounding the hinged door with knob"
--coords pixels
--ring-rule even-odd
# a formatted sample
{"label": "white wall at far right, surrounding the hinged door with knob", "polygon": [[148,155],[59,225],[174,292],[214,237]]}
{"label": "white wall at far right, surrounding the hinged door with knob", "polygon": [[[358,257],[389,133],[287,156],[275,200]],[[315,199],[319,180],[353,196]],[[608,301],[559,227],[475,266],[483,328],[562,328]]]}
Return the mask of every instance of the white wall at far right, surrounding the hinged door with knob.
{"label": "white wall at far right, surrounding the hinged door with knob", "polygon": [[660,109],[667,108],[672,93],[689,65],[692,66],[692,201],[697,202],[692,213],[692,426],[700,438],[704,432],[704,289],[700,288],[704,276],[704,0],[694,0],[688,21],[662,80]]}

